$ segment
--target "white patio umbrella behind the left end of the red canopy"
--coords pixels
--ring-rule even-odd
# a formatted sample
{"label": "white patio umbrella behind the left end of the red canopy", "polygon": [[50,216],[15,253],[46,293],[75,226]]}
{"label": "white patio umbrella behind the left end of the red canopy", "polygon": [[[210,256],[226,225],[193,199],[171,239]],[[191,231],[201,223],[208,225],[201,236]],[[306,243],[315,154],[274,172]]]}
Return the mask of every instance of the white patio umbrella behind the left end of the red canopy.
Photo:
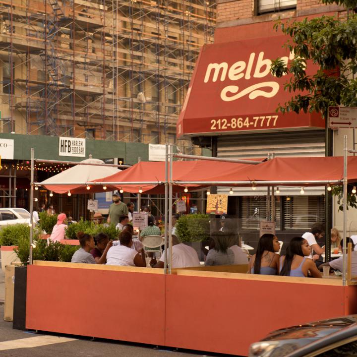
{"label": "white patio umbrella behind the left end of the red canopy", "polygon": [[[60,174],[39,182],[38,185],[56,193],[67,193],[68,191],[71,193],[103,192],[104,189],[100,185],[90,186],[90,190],[87,190],[86,185],[76,185],[71,182],[89,182],[117,174],[121,171],[116,167],[103,166],[105,164],[104,161],[93,159],[92,155],[89,155],[89,159],[83,160],[81,163],[98,165],[80,165],[79,163],[70,169],[62,171]],[[68,185],[56,185],[57,182],[68,182]]]}

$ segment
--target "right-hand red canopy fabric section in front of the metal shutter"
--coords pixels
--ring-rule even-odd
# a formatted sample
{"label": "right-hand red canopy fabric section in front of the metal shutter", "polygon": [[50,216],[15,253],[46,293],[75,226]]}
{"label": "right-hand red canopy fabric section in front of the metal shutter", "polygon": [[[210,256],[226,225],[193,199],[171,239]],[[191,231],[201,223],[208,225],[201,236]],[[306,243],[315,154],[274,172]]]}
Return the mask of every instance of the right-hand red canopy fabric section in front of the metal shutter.
{"label": "right-hand red canopy fabric section in front of the metal shutter", "polygon": [[[249,179],[254,181],[305,181],[304,186],[321,186],[323,183],[311,181],[342,180],[343,157],[284,157],[274,158],[249,170]],[[349,156],[347,161],[349,182],[357,181],[357,156]],[[279,183],[279,185],[284,185]]]}

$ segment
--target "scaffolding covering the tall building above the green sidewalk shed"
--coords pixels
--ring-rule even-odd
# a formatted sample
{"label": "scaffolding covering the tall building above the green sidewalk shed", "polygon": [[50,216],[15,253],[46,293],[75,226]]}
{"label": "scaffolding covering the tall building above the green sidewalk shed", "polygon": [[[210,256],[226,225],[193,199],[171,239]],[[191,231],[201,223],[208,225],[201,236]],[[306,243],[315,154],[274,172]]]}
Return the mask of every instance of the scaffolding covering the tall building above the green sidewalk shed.
{"label": "scaffolding covering the tall building above the green sidewalk shed", "polygon": [[195,60],[213,42],[215,7],[214,0],[2,1],[3,131],[176,142]]}

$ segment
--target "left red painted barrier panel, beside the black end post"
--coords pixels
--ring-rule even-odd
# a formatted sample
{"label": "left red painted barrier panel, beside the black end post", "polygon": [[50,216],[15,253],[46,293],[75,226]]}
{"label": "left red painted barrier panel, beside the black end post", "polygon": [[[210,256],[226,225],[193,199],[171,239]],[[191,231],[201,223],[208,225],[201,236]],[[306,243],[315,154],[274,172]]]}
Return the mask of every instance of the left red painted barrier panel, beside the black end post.
{"label": "left red painted barrier panel, beside the black end post", "polygon": [[26,328],[164,345],[165,276],[30,265]]}

